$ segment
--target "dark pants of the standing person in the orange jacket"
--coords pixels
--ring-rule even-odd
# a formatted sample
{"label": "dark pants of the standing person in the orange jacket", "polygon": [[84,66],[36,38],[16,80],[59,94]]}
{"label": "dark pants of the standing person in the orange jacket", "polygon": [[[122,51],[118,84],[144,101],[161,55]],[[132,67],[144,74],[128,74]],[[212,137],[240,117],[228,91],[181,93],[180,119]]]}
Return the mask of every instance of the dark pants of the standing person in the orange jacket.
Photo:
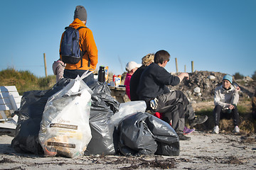
{"label": "dark pants of the standing person in the orange jacket", "polygon": [[[81,77],[82,74],[84,74],[87,70],[82,70],[82,69],[64,69],[64,78],[68,78],[68,79],[75,79],[76,77]],[[94,77],[93,74],[90,74],[89,76],[85,77],[85,79],[82,79],[83,81],[85,81],[86,84],[88,84],[88,82],[93,81]]]}

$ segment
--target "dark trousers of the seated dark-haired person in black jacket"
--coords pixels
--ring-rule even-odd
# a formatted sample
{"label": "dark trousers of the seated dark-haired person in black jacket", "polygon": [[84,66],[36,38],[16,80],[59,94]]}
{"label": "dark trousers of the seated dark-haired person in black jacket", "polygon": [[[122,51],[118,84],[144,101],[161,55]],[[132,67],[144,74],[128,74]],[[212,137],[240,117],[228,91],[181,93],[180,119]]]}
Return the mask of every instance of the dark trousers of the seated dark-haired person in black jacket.
{"label": "dark trousers of the seated dark-haired person in black jacket", "polygon": [[167,94],[161,94],[157,97],[159,105],[156,112],[163,114],[163,120],[170,123],[177,133],[183,133],[185,126],[185,115],[188,114],[188,120],[193,120],[195,113],[188,98],[182,91],[171,91]]}

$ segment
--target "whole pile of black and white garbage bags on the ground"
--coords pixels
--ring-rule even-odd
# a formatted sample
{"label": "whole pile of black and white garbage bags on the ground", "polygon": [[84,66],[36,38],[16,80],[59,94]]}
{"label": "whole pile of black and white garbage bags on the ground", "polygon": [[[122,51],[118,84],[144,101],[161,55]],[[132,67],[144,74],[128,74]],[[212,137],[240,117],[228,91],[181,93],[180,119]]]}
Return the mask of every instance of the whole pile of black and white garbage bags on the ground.
{"label": "whole pile of black and white garbage bags on the ground", "polygon": [[[83,77],[84,75],[82,75]],[[16,152],[78,157],[90,154],[179,154],[176,132],[146,113],[144,101],[118,103],[107,84],[61,79],[21,99]]]}

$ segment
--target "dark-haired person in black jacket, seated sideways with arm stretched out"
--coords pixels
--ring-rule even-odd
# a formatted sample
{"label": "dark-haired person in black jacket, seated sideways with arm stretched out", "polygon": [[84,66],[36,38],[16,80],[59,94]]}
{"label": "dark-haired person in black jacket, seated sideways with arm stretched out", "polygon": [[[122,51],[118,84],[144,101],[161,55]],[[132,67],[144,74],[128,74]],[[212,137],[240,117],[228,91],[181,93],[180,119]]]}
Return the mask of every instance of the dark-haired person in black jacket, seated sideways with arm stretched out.
{"label": "dark-haired person in black jacket, seated sideways with arm stretched out", "polygon": [[169,52],[165,50],[156,52],[154,62],[142,72],[137,95],[139,100],[146,102],[147,109],[162,113],[162,119],[166,123],[171,123],[180,140],[191,140],[191,137],[183,135],[185,113],[188,112],[188,121],[191,126],[206,122],[208,117],[196,117],[191,103],[182,91],[166,91],[166,86],[176,86],[184,78],[188,79],[189,77],[186,72],[182,72],[178,76],[172,76],[167,72],[164,67],[169,59]]}

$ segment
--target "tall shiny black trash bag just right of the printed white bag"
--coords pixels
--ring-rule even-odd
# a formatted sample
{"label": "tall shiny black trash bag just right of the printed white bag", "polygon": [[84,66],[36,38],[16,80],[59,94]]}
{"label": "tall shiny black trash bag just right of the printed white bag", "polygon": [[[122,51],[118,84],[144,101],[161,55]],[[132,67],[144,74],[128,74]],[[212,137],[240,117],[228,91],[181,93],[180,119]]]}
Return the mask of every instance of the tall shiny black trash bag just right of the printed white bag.
{"label": "tall shiny black trash bag just right of the printed white bag", "polygon": [[110,95],[107,84],[97,82],[91,89],[93,94],[89,124],[92,139],[87,145],[85,155],[115,154],[114,125],[110,123],[110,118],[118,111],[119,103]]}

